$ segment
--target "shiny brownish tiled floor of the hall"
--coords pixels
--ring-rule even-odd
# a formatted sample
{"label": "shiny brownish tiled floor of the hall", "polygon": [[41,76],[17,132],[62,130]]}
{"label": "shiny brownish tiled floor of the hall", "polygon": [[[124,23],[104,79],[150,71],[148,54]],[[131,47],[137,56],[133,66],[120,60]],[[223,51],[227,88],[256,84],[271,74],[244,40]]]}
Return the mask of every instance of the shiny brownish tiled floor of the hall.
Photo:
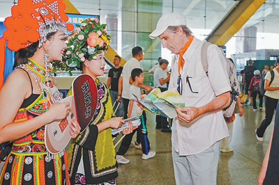
{"label": "shiny brownish tiled floor of the hall", "polygon": [[[257,184],[257,176],[269,143],[273,122],[266,130],[264,142],[259,142],[255,138],[255,129],[264,118],[264,110],[254,112],[252,106],[243,107],[245,114],[241,118],[236,115],[234,121],[234,133],[230,145],[234,148],[234,152],[220,153],[218,185]],[[156,151],[156,156],[153,159],[143,160],[141,150],[130,147],[125,155],[130,163],[119,165],[117,185],[175,184],[172,167],[171,134],[162,133],[155,129],[155,116],[149,113],[147,113],[147,125],[151,150]],[[3,163],[0,163],[0,168],[2,165]]]}

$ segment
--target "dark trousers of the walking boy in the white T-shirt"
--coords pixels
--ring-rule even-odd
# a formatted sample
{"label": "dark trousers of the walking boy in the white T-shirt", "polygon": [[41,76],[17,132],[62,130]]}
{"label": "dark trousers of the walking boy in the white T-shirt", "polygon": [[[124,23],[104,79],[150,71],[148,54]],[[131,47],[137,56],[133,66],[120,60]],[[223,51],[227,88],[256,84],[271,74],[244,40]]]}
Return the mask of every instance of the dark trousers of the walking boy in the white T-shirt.
{"label": "dark trousers of the walking boy in the white T-shirt", "polygon": [[140,120],[141,120],[142,124],[140,124],[140,126],[137,127],[137,129],[135,129],[132,133],[127,134],[123,138],[121,145],[119,147],[119,150],[116,153],[117,155],[122,156],[123,154],[126,154],[126,152],[128,151],[128,149],[130,147],[130,143],[135,134],[135,131],[137,131],[137,136],[140,136],[140,143],[142,143],[142,154],[149,153],[150,144],[149,144],[149,139],[147,137],[147,127],[146,127],[143,115],[140,116]]}

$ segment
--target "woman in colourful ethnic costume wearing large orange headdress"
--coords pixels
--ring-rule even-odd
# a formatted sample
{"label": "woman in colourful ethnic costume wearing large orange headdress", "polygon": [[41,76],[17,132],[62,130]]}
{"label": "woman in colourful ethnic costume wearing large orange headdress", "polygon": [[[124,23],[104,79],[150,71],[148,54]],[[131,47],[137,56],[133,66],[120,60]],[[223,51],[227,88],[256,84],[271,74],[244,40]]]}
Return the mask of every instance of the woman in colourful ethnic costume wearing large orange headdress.
{"label": "woman in colourful ethnic costume wearing large orange headdress", "polygon": [[[59,103],[49,67],[50,61],[62,60],[66,49],[65,8],[62,0],[19,0],[5,20],[0,56],[5,59],[8,41],[17,67],[0,91],[0,143],[13,141],[0,184],[70,184],[66,152],[51,155],[44,138],[45,124],[70,112],[68,103]],[[80,132],[75,118],[70,128],[75,138]]]}

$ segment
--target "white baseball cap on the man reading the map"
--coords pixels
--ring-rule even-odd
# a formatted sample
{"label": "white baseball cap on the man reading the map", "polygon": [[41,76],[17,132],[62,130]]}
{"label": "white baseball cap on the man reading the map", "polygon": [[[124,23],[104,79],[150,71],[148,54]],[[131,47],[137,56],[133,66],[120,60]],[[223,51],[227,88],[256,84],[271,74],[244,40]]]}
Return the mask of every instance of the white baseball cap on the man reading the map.
{"label": "white baseball cap on the man reading the map", "polygon": [[168,26],[186,25],[186,17],[181,13],[166,13],[158,20],[156,29],[149,35],[149,38],[155,39],[161,35]]}

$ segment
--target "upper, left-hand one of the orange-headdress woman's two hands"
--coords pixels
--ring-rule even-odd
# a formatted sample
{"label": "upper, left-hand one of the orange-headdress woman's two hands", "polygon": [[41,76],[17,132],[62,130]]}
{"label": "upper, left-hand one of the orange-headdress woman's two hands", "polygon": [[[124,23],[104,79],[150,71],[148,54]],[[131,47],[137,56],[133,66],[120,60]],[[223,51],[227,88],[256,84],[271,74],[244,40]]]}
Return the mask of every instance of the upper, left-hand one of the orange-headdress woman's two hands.
{"label": "upper, left-hand one of the orange-headdress woman's two hands", "polygon": [[43,114],[46,116],[48,122],[53,122],[54,120],[63,120],[70,113],[70,103],[69,102],[57,102],[52,104],[50,108]]}

